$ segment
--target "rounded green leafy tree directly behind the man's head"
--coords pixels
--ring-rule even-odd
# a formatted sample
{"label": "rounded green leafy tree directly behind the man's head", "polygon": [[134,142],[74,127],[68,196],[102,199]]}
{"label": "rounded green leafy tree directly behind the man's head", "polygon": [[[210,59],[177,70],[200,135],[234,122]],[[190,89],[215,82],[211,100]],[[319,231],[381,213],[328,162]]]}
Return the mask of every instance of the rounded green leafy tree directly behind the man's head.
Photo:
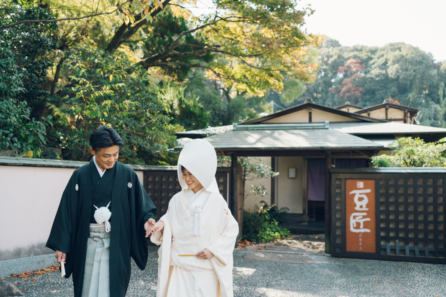
{"label": "rounded green leafy tree directly behind the man's head", "polygon": [[[113,126],[125,141],[121,160],[129,164],[158,164],[159,152],[175,146],[170,106],[158,98],[149,73],[119,51],[107,53],[86,47],[70,50],[62,67],[76,81],[52,98],[49,105],[57,122],[52,146],[64,159],[90,158],[88,136],[99,125]],[[59,97],[63,94],[64,97]]]}

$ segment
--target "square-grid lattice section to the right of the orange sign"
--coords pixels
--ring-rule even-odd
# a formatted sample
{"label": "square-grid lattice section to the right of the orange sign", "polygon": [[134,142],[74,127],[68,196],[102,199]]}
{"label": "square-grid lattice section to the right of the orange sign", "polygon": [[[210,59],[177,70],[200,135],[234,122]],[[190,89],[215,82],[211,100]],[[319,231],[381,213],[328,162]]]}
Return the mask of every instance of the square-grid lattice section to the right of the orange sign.
{"label": "square-grid lattice section to the right of the orange sign", "polygon": [[380,253],[445,257],[445,180],[413,176],[377,182]]}

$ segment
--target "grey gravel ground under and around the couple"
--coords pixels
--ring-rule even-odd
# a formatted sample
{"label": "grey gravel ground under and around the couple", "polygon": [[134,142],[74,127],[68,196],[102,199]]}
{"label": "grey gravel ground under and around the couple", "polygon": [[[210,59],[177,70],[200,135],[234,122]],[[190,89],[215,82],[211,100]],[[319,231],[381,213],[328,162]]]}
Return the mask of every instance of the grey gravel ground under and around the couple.
{"label": "grey gravel ground under and around the couple", "polygon": [[[311,264],[244,259],[246,254],[256,252],[268,251],[234,252],[235,297],[446,297],[446,265],[345,259],[320,254],[306,254],[313,260]],[[24,296],[73,296],[71,279],[62,279],[58,272],[34,278],[36,281],[19,278],[5,281],[19,281],[17,287],[27,289]],[[156,283],[157,247],[149,247],[147,268],[140,271],[132,264],[126,296],[155,296]]]}

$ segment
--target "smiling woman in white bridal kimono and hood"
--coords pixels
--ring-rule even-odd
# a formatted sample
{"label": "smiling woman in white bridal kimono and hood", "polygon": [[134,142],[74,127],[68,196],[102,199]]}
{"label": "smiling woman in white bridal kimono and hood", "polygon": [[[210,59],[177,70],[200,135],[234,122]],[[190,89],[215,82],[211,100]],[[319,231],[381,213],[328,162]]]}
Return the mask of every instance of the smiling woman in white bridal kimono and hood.
{"label": "smiling woman in white bridal kimono and hood", "polygon": [[239,226],[220,194],[215,149],[194,139],[181,151],[182,191],[155,224],[150,240],[158,249],[157,297],[232,297],[232,251]]}

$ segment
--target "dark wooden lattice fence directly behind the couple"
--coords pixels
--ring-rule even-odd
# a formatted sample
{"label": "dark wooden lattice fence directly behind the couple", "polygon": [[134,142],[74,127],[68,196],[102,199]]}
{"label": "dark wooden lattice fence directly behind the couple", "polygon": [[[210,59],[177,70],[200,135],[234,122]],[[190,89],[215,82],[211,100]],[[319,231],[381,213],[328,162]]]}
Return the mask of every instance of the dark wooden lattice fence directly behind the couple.
{"label": "dark wooden lattice fence directly behind the couple", "polygon": [[[226,201],[229,194],[229,174],[228,171],[217,171],[215,174],[220,194]],[[166,213],[170,198],[181,191],[176,170],[145,171],[144,188],[157,207],[156,220]]]}

